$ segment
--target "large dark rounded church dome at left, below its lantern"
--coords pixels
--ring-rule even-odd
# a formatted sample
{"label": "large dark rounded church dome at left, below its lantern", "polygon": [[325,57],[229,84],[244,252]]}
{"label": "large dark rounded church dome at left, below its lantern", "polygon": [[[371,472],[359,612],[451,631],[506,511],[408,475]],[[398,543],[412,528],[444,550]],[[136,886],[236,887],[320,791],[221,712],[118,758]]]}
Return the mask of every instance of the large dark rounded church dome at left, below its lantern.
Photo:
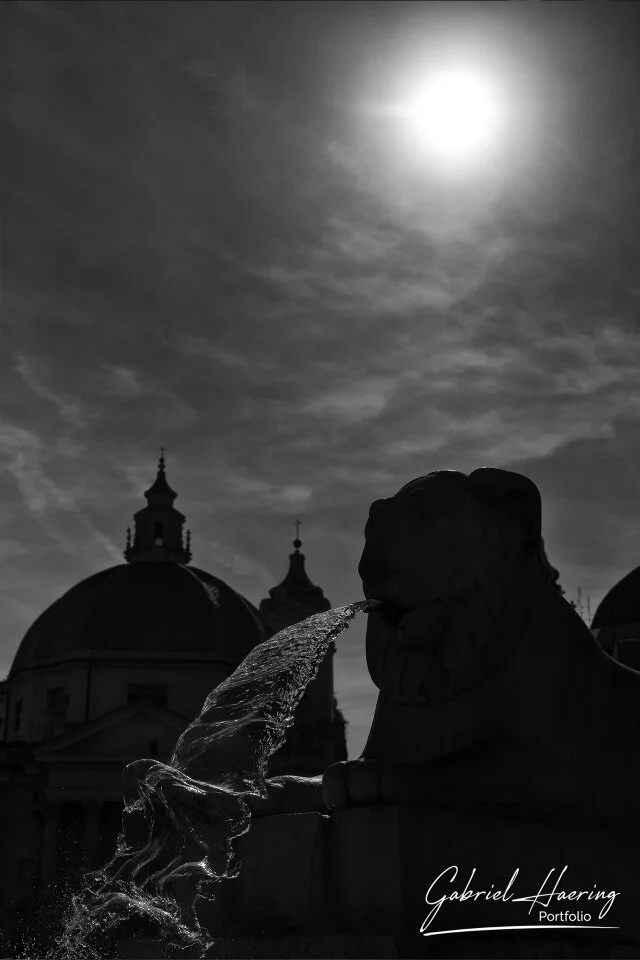
{"label": "large dark rounded church dome at left, below its lantern", "polygon": [[235,667],[271,633],[248,600],[204,570],[119,564],[82,580],[38,617],[9,678],[40,664],[101,654],[206,654]]}

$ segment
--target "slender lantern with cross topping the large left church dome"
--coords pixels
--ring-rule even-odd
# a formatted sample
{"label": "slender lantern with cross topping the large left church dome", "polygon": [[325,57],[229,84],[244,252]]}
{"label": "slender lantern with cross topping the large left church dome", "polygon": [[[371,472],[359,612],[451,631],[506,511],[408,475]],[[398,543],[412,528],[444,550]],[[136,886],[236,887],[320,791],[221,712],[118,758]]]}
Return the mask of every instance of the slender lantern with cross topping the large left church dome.
{"label": "slender lantern with cross topping the large left church dome", "polygon": [[133,542],[131,528],[127,528],[127,546],[124,551],[128,563],[155,560],[169,563],[189,563],[191,560],[191,532],[187,530],[183,542],[182,528],[186,517],[173,506],[178,494],[167,482],[164,447],[160,450],[158,473],[153,484],[145,490],[147,506],[134,514]]}

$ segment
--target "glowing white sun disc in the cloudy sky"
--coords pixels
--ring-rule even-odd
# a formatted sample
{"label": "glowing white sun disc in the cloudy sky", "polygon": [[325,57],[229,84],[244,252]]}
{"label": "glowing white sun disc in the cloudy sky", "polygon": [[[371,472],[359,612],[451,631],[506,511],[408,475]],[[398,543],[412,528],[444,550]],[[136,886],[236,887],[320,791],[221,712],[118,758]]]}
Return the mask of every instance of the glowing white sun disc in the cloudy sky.
{"label": "glowing white sun disc in the cloudy sky", "polygon": [[407,106],[423,146],[452,167],[486,157],[504,122],[504,98],[488,77],[470,68],[439,70]]}

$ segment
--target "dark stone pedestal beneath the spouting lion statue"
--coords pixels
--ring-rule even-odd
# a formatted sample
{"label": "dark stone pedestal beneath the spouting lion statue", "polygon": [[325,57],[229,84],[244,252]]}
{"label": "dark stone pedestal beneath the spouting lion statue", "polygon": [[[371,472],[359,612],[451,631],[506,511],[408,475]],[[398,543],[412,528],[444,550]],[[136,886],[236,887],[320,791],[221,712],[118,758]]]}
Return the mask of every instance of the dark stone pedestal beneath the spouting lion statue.
{"label": "dark stone pedestal beneath the spouting lion statue", "polygon": [[270,949],[318,957],[640,954],[639,834],[359,807],[257,819],[238,853],[239,877],[199,911],[220,938],[212,957]]}

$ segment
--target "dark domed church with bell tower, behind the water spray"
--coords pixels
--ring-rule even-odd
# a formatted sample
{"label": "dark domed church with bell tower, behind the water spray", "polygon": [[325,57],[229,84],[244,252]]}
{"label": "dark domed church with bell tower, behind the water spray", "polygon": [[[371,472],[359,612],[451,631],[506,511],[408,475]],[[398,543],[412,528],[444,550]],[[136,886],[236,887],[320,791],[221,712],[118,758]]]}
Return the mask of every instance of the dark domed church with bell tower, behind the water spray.
{"label": "dark domed church with bell tower, behind the water spray", "polygon": [[[211,690],[256,644],[331,606],[306,574],[298,539],[285,579],[260,609],[193,566],[164,456],[145,497],[127,531],[126,563],[45,610],[0,684],[5,937],[65,877],[110,858],[124,767],[142,757],[168,760]],[[316,774],[346,758],[332,661],[333,651],[272,758],[272,775]]]}

